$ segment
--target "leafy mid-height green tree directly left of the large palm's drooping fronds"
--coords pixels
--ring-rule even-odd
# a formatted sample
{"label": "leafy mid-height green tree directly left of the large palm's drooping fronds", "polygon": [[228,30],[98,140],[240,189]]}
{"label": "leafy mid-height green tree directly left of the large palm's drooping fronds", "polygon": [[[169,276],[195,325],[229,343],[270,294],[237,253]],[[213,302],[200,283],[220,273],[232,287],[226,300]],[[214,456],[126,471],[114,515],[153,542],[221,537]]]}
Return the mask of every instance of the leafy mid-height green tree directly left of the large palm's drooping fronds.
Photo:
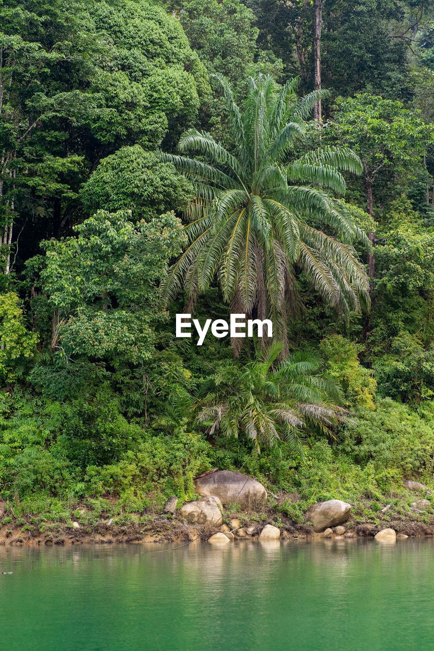
{"label": "leafy mid-height green tree directly left of the large palm's drooping fronds", "polygon": [[166,317],[157,285],[184,234],[172,213],[137,225],[128,217],[129,211],[98,211],[74,228],[76,237],[44,243],[51,350],[115,367],[151,357],[152,328]]}

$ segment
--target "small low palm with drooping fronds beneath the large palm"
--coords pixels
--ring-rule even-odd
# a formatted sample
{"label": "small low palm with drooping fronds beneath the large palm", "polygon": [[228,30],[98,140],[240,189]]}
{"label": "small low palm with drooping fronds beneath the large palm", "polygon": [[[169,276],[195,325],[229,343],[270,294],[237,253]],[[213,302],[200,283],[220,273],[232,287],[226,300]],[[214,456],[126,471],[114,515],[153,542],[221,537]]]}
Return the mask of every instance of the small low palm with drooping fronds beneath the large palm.
{"label": "small low palm with drooping fronds beneath the large palm", "polygon": [[301,452],[302,437],[343,421],[339,385],[321,374],[321,359],[308,352],[292,353],[280,364],[282,344],[272,344],[242,370],[231,364],[211,378],[214,388],[199,400],[199,422],[210,434],[243,433],[259,450],[279,439]]}

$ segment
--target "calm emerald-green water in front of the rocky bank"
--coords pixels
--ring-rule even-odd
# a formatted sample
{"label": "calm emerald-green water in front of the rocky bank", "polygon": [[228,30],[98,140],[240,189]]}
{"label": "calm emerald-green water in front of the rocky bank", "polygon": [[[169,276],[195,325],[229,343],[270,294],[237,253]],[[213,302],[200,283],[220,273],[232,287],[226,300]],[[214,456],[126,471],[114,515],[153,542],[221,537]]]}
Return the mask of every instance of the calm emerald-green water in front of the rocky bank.
{"label": "calm emerald-green water in front of the rocky bank", "polygon": [[0,570],[5,651],[434,649],[432,540],[3,547]]}

